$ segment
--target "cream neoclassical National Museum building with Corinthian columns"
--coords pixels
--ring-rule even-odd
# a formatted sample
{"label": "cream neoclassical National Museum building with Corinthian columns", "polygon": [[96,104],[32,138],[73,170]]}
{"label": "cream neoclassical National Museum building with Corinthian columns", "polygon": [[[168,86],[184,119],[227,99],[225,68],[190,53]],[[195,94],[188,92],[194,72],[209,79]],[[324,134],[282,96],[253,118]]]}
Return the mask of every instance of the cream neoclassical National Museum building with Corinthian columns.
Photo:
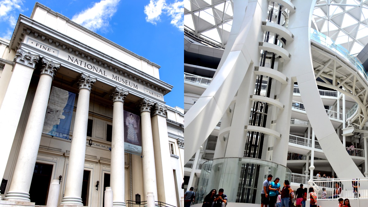
{"label": "cream neoclassical National Museum building with Corinthian columns", "polygon": [[113,206],[181,205],[184,111],[160,66],[39,3],[0,43],[0,206],[46,205],[58,182],[60,206],[103,206],[106,187]]}

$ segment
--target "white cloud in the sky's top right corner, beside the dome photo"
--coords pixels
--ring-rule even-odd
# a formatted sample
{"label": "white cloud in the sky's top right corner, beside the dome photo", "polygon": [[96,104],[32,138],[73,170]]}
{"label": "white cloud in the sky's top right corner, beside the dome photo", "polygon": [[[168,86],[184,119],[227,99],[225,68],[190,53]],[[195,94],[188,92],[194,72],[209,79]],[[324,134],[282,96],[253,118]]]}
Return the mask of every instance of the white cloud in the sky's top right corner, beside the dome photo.
{"label": "white cloud in the sky's top right corner, beside the dome photo", "polygon": [[166,14],[171,18],[171,24],[180,30],[184,29],[184,1],[176,0],[167,4],[166,0],[150,0],[144,7],[146,21],[154,25],[160,21],[160,16]]}

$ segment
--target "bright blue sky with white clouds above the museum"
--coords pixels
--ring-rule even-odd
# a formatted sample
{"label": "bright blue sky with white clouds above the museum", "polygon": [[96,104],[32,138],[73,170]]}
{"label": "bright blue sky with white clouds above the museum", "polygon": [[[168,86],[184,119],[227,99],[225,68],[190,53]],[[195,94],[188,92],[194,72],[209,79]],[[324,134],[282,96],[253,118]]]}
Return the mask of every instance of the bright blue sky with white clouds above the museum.
{"label": "bright blue sky with white clouds above the museum", "polygon": [[[30,17],[35,2],[0,0],[0,37],[10,39],[19,14]],[[174,86],[164,100],[184,107],[183,0],[38,2],[160,65],[160,80]]]}

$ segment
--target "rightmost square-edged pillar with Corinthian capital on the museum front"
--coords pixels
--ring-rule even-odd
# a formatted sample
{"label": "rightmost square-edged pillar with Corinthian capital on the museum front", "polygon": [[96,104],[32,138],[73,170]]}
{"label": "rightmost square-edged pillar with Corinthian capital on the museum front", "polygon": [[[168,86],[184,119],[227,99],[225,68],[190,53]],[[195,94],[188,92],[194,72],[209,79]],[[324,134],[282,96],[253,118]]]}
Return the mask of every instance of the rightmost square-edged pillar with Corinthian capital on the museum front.
{"label": "rightmost square-edged pillar with Corinthian capital on the museum front", "polygon": [[176,190],[174,181],[174,173],[171,165],[169,137],[167,137],[166,124],[167,108],[165,106],[155,104],[152,110],[152,136],[153,148],[155,152],[155,167],[156,167],[156,181],[157,181],[157,196],[158,201],[176,206]]}

